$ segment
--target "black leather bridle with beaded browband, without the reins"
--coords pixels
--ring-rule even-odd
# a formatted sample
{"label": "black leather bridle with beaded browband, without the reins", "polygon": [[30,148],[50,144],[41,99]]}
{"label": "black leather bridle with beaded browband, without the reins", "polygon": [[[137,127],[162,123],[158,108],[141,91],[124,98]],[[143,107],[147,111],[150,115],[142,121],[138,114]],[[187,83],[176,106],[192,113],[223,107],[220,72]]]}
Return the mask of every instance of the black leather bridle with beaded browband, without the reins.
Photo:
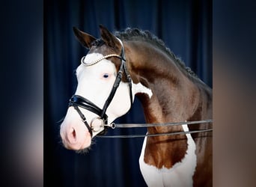
{"label": "black leather bridle with beaded browband, without the reins", "polygon": [[[120,42],[121,42],[121,40],[120,40]],[[125,58],[125,54],[124,54],[124,46],[123,46],[122,42],[121,42],[121,46],[122,46],[121,55],[117,55],[117,54],[106,55],[106,56],[103,56],[103,58],[100,58],[100,59],[97,59],[96,61],[91,62],[90,64],[86,64],[84,62],[85,57],[83,57],[82,60],[81,60],[82,64],[85,65],[86,67],[92,66],[94,64],[97,64],[98,62],[102,61],[103,59],[110,58],[110,57],[119,58],[121,60],[121,66],[120,66],[120,68],[118,70],[118,74],[116,76],[114,85],[112,87],[112,91],[109,93],[109,96],[106,99],[106,102],[103,105],[102,109],[99,108],[97,105],[95,105],[90,100],[85,99],[82,96],[73,95],[70,98],[69,107],[73,106],[76,109],[76,111],[78,112],[79,116],[82,118],[82,121],[85,123],[85,126],[88,128],[88,131],[91,134],[91,138],[93,137],[93,132],[99,132],[100,131],[99,127],[94,126],[94,123],[93,123],[94,120],[102,120],[102,123],[101,123],[100,127],[104,126],[104,129],[100,132],[100,134],[103,134],[104,132],[106,132],[106,128],[107,128],[106,126],[108,126],[108,116],[106,114],[106,110],[109,107],[110,102],[112,102],[113,97],[115,96],[115,92],[117,91],[118,86],[120,85],[120,82],[122,80],[123,73],[126,76],[127,81],[128,81],[128,85],[129,85],[129,98],[130,98],[130,102],[131,102],[130,107],[132,106],[132,79],[131,79],[131,77],[129,75],[129,72],[127,70],[126,58]],[[89,125],[87,120],[86,120],[86,118],[85,118],[85,115],[82,114],[82,111],[79,109],[79,107],[85,108],[86,110],[91,111],[94,114],[97,114],[99,117],[94,118],[91,121],[91,124]]]}

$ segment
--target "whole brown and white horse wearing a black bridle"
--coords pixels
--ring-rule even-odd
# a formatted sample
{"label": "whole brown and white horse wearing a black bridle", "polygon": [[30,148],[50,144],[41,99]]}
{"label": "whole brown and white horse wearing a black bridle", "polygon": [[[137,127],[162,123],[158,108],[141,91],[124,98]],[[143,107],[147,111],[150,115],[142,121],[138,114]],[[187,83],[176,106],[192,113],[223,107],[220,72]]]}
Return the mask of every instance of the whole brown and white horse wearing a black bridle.
{"label": "whole brown and white horse wearing a black bridle", "polygon": [[[76,69],[76,93],[61,123],[67,149],[90,147],[96,135],[129,111],[135,96],[146,123],[212,118],[212,89],[150,31],[112,33],[100,25],[98,39],[76,27],[73,32],[89,51]],[[147,186],[212,186],[213,132],[200,132],[212,126],[147,126],[147,135],[156,135],[145,135],[138,159]],[[192,130],[199,132],[168,135]]]}

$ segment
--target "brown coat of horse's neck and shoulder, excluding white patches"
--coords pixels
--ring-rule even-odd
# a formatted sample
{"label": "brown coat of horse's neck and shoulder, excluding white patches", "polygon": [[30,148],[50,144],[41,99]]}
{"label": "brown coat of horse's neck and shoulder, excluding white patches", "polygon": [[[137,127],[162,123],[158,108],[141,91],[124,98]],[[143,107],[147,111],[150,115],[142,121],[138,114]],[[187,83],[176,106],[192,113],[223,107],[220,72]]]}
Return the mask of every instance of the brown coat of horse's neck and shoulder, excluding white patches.
{"label": "brown coat of horse's neck and shoulder, excluding white patches", "polygon": [[[121,38],[122,40],[122,38]],[[133,82],[141,82],[153,92],[137,93],[147,123],[168,123],[212,118],[212,91],[200,79],[185,70],[178,59],[150,40],[123,40]],[[154,45],[155,44],[155,45]],[[189,129],[207,129],[209,124]],[[183,131],[181,126],[148,127],[149,134]],[[212,186],[212,132],[192,134],[196,144],[197,166],[194,186]],[[187,150],[186,135],[147,138],[144,162],[156,168],[171,168],[181,162]]]}

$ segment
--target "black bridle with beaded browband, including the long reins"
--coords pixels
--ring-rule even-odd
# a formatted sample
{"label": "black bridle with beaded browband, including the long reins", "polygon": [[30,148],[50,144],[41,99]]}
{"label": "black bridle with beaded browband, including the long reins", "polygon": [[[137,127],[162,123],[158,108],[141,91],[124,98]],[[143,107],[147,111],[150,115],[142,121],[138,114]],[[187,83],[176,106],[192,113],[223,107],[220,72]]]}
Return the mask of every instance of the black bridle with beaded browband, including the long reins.
{"label": "black bridle with beaded browband, including the long reins", "polygon": [[[166,133],[159,133],[159,134],[153,134],[153,135],[104,135],[106,133],[107,127],[111,127],[112,129],[115,128],[131,128],[131,127],[148,127],[148,126],[178,126],[178,125],[188,125],[188,124],[197,124],[197,123],[212,123],[213,120],[198,120],[198,121],[186,121],[186,122],[174,122],[174,123],[137,123],[137,124],[115,124],[110,123],[108,124],[108,116],[106,114],[106,110],[109,107],[110,102],[112,102],[113,97],[115,96],[115,92],[118,89],[118,86],[120,85],[123,73],[124,76],[126,76],[128,86],[129,86],[129,99],[130,99],[130,107],[132,106],[132,79],[129,75],[129,72],[127,70],[127,64],[126,64],[126,57],[124,54],[124,45],[120,39],[118,39],[121,43],[121,55],[117,54],[110,54],[105,55],[102,58],[99,58],[91,63],[85,63],[85,56],[81,59],[81,62],[85,67],[92,66],[94,64],[97,64],[98,62],[102,61],[103,59],[115,57],[119,58],[121,60],[121,66],[118,70],[118,74],[116,76],[114,85],[112,87],[112,91],[109,93],[108,98],[106,99],[105,104],[103,105],[103,108],[101,109],[97,105],[94,104],[94,102],[91,102],[90,100],[79,96],[79,95],[73,95],[70,98],[69,107],[73,106],[76,111],[78,112],[79,116],[81,117],[82,121],[85,123],[85,126],[87,127],[88,131],[91,134],[91,138],[93,138],[93,132],[98,132],[97,137],[100,138],[139,138],[139,137],[145,137],[145,136],[159,136],[159,135],[177,135],[177,134],[192,134],[192,133],[198,133],[198,132],[209,132],[213,131],[213,129],[201,129],[201,130],[194,130],[194,131],[188,131],[188,132],[166,132]],[[94,114],[97,114],[99,117],[95,117],[93,120],[91,120],[91,123],[89,124],[86,120],[86,117],[84,114],[82,114],[82,111],[79,109],[85,108],[88,111],[93,112]],[[94,125],[94,120],[100,120],[100,126]],[[102,129],[103,130],[100,130]]]}

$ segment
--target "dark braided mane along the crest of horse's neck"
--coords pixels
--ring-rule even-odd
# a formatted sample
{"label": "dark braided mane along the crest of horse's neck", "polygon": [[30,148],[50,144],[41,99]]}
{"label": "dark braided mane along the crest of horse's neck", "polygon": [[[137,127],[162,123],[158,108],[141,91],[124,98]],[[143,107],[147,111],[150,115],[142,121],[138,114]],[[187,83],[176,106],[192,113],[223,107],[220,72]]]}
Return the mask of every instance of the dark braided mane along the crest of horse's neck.
{"label": "dark braided mane along the crest of horse's neck", "polygon": [[150,31],[142,31],[138,28],[126,28],[124,31],[115,31],[114,34],[121,40],[140,39],[155,44],[159,47],[159,49],[165,51],[174,60],[174,62],[176,62],[178,65],[180,65],[181,68],[183,68],[183,70],[186,70],[186,72],[189,73],[190,76],[198,78],[198,76],[190,69],[190,67],[186,67],[185,63],[181,61],[180,58],[177,58],[177,56],[174,55],[174,52],[171,52],[171,50],[165,46],[165,43],[154,34],[152,34]]}

